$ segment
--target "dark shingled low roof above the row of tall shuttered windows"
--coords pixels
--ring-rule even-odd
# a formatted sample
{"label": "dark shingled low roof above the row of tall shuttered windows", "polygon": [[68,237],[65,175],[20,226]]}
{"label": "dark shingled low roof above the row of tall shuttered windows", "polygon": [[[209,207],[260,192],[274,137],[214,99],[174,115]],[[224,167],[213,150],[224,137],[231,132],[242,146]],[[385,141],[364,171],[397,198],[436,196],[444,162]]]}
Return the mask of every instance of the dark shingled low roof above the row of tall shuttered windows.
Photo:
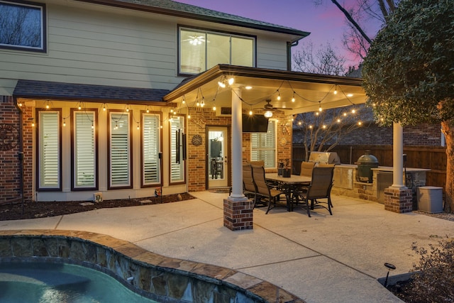
{"label": "dark shingled low roof above the row of tall shuttered windows", "polygon": [[169,94],[167,89],[111,87],[106,85],[72,84],[35,80],[18,80],[13,96],[18,98],[109,101],[122,103],[160,102]]}

